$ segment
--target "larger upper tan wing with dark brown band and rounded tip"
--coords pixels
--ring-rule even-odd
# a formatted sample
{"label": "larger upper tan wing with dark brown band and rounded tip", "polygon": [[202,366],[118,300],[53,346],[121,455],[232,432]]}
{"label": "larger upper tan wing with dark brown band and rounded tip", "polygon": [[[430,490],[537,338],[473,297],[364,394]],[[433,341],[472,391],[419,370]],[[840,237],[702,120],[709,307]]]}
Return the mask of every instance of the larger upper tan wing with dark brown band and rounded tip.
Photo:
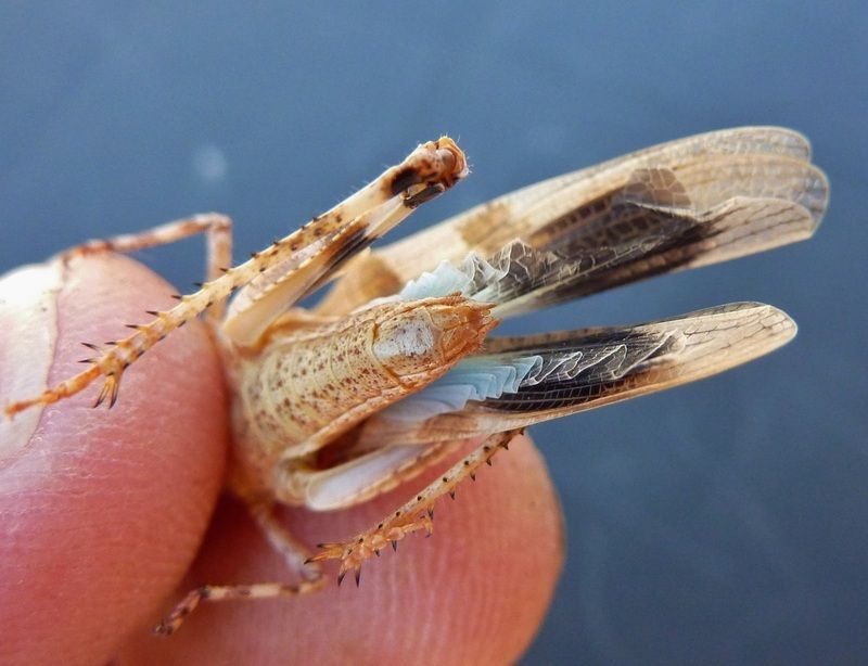
{"label": "larger upper tan wing with dark brown band and rounded tip", "polygon": [[343,313],[470,254],[505,273],[486,296],[509,316],[803,240],[828,202],[826,177],[809,159],[801,135],[773,127],[639,151],[359,257],[321,309]]}

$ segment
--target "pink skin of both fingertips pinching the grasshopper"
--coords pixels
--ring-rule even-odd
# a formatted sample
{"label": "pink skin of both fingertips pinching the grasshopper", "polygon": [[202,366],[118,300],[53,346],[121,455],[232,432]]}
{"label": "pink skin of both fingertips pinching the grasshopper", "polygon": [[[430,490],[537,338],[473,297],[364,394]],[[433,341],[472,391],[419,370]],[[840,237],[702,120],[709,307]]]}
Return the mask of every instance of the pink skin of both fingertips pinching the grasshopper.
{"label": "pink skin of both fingertips pinching the grasshopper", "polygon": [[[0,280],[0,402],[27,397],[11,393],[42,366],[50,383],[79,371],[92,355],[80,342],[123,336],[145,309],[170,307],[174,291],[114,255]],[[554,491],[526,438],[437,503],[432,538],[366,562],[359,589],[352,577],[339,588],[329,564],[320,593],[204,603],[175,636],[152,637],[192,586],[290,576],[243,508],[219,499],[229,424],[204,325],[138,361],[111,411],[90,409],[98,390],[50,406],[33,427],[0,424],[3,664],[486,664],[516,659],[533,639],[563,547]],[[309,545],[343,540],[436,473],[350,510],[283,515]]]}

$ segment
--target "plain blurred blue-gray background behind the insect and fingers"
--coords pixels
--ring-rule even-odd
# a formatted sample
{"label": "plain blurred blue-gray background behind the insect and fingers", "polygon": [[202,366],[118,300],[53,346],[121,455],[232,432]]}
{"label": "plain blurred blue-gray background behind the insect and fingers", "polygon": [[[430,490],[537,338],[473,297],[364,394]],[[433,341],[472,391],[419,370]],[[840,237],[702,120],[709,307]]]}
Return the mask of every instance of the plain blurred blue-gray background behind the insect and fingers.
{"label": "plain blurred blue-gray background behind the insect and fingers", "polygon": [[[180,4],[0,5],[0,269],[209,209],[241,256],[441,132],[474,174],[400,233],[676,137],[807,133],[832,182],[810,242],[514,324],[756,299],[801,326],[750,367],[534,428],[567,564],[525,659],[868,658],[864,3]],[[183,285],[202,255],[144,258]]]}

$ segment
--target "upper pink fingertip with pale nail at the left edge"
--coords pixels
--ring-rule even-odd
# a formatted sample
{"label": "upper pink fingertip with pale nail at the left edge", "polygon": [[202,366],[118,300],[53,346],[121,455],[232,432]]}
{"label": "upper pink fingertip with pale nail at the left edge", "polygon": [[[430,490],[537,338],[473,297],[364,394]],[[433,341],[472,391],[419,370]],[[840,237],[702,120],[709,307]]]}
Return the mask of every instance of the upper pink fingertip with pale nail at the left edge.
{"label": "upper pink fingertip with pale nail at the left edge", "polygon": [[[123,336],[173,291],[117,256],[4,277],[0,404],[75,374],[80,342]],[[111,411],[90,409],[97,393],[0,424],[4,664],[110,658],[177,585],[216,501],[225,392],[200,324],[135,363]]]}

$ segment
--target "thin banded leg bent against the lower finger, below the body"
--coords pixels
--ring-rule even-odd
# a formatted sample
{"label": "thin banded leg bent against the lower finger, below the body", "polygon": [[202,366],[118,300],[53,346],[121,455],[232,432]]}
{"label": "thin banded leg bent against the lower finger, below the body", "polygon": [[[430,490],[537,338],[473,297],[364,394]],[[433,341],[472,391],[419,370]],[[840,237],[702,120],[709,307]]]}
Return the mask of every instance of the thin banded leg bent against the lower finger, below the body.
{"label": "thin banded leg bent against the lower finger, below the body", "polygon": [[263,535],[298,577],[298,582],[256,582],[252,585],[205,585],[191,590],[156,627],[154,633],[174,633],[183,620],[203,601],[231,601],[238,599],[276,599],[298,597],[316,592],[326,585],[319,565],[308,562],[307,549],[275,515],[270,502],[245,502],[247,511],[263,530]]}

